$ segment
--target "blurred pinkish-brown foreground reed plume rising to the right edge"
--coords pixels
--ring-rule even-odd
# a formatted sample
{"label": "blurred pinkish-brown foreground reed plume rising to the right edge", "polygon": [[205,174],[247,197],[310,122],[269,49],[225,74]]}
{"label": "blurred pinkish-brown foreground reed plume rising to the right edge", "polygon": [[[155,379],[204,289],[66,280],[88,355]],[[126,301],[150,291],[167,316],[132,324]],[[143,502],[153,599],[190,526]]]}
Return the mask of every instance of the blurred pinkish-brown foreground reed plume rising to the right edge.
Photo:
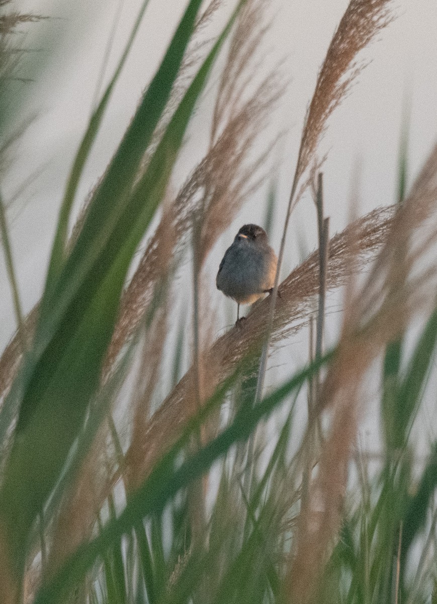
{"label": "blurred pinkish-brown foreground reed plume rising to the right edge", "polygon": [[[433,266],[423,271],[418,265],[437,240],[435,225],[429,233],[422,233],[430,226],[428,219],[436,210],[436,202],[437,147],[395,214],[386,243],[365,283],[354,295],[349,293],[346,297],[345,320],[336,358],[328,368],[308,425],[309,435],[322,411],[333,413],[333,428],[322,447],[313,494],[299,518],[296,556],[285,580],[290,602],[306,603],[313,599],[325,557],[339,527],[342,493],[333,485],[340,484],[342,489],[346,485],[344,477],[337,480],[338,468],[343,467],[344,471],[347,467],[356,436],[356,405],[350,402],[344,405],[344,401],[357,393],[371,363],[406,329],[415,313],[429,310],[435,304],[437,271]],[[353,233],[352,236],[354,246],[359,248],[356,236]],[[402,254],[398,253],[400,249]],[[400,263],[403,266],[399,266]],[[340,407],[339,400],[343,401]],[[356,396],[353,400],[357,400]],[[333,454],[340,457],[333,458]],[[313,586],[312,591],[308,591],[308,585]]]}

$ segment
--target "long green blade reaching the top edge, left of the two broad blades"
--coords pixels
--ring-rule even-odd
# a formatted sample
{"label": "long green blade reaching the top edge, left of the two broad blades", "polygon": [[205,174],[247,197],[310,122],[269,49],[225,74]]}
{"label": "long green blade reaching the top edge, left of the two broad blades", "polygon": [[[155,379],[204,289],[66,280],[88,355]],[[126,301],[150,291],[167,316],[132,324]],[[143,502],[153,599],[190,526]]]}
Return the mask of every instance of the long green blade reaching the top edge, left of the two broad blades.
{"label": "long green blade reaching the top edge, left of the two broad blades", "polygon": [[[136,117],[130,124],[124,140],[110,164],[110,169],[107,170],[106,175],[90,204],[91,214],[86,220],[86,224],[89,226],[88,245],[86,245],[87,237],[83,232],[79,239],[81,240],[81,253],[83,253],[85,259],[88,256],[91,266],[96,260],[95,254],[92,253],[93,243],[97,243],[97,240],[99,239],[106,240],[109,237],[111,221],[114,222],[115,220],[110,217],[109,209],[112,206],[114,212],[117,205],[120,205],[120,202],[123,201],[121,199],[124,197],[122,194],[123,190],[129,188],[148,141],[150,141],[150,138],[152,137],[153,129],[155,129],[156,123],[158,123],[159,117],[164,110],[165,103],[170,95],[171,87],[173,86],[174,79],[176,78],[182,60],[183,52],[187,47],[188,40],[190,39],[193,30],[194,19],[199,4],[199,0],[192,0],[188,5],[182,21],[170,43],[170,47],[161,68],[158,69],[155,79],[153,79],[152,84],[149,86],[136,113]],[[90,139],[90,137],[92,138],[90,132],[88,132],[86,138],[87,136],[88,139]],[[132,150],[130,150],[130,146],[132,146]],[[118,172],[118,170],[120,170],[120,172]],[[73,177],[73,179],[74,178],[75,177]],[[66,202],[66,204],[68,203],[69,202]],[[94,209],[91,211],[91,208]],[[62,222],[62,219],[60,222]],[[65,228],[65,225],[60,225],[60,234],[59,236],[56,236],[56,239],[59,240],[56,245],[59,245],[59,248],[63,247],[62,231]],[[100,238],[98,237],[98,234],[100,234]],[[55,254],[57,254],[57,252],[55,252]],[[53,262],[53,266],[57,265],[56,260]],[[87,268],[89,267],[86,267],[86,269]],[[69,304],[72,303],[74,296],[78,295],[81,286],[83,286],[86,270],[84,269],[79,277],[74,277],[71,270],[72,267],[69,266],[66,272],[67,276],[64,280],[63,294],[62,292],[59,292],[59,288],[57,288],[57,300],[54,300],[52,295],[54,283],[46,283],[46,290],[43,294],[44,304],[42,304],[40,309],[40,316],[32,349],[27,355],[25,363],[12,385],[10,395],[5,400],[0,411],[0,444],[4,443],[5,435],[10,427],[11,418],[21,404],[21,400],[24,397],[25,390],[31,380],[37,362],[43,355],[51,339],[56,335],[56,330],[60,328],[59,323],[62,318],[65,318]],[[67,291],[65,291],[65,289]],[[92,293],[93,292],[89,294],[91,297]],[[74,306],[83,307],[83,304],[78,304],[77,301],[75,301]],[[75,322],[77,323],[77,316],[75,317]],[[68,344],[68,342],[65,342],[65,344]]]}

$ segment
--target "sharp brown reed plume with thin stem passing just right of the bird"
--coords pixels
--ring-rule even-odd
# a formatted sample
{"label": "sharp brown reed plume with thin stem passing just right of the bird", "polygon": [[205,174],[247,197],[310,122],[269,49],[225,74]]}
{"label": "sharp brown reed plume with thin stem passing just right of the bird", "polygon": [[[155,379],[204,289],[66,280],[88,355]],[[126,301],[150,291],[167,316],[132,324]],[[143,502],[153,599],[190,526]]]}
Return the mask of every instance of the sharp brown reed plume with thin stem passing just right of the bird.
{"label": "sharp brown reed plume with thin stem passing just right of the bird", "polygon": [[260,370],[258,373],[257,400],[260,400],[264,388],[264,376],[269,356],[270,335],[273,329],[279,275],[284,258],[285,239],[287,237],[290,215],[299,196],[302,194],[301,187],[299,194],[296,195],[299,181],[301,181],[304,172],[315,159],[317,146],[327,127],[328,118],[348,94],[352,82],[354,82],[365,66],[363,63],[359,64],[355,62],[357,54],[394,19],[389,10],[390,4],[392,4],[392,0],[351,0],[345,14],[343,14],[336,33],[334,33],[324,63],[319,71],[316,89],[304,121],[298,160],[296,162],[289,205],[282,231],[275,286],[273,288],[269,321],[267,323],[263,354],[261,355]]}

